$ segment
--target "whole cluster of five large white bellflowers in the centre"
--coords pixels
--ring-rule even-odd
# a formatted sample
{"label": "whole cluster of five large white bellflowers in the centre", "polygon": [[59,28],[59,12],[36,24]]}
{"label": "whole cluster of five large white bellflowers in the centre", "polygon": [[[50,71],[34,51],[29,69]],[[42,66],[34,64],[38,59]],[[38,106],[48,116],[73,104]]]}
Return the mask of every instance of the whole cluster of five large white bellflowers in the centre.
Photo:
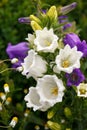
{"label": "whole cluster of five large white bellflowers in the centre", "polygon": [[[56,75],[61,71],[71,73],[75,68],[80,68],[80,58],[82,53],[77,48],[71,48],[66,45],[59,48],[58,36],[54,34],[53,29],[36,30],[35,34],[28,34],[26,38],[32,48],[22,63],[22,74],[27,78],[33,77],[37,84],[31,86],[29,93],[25,96],[27,107],[34,111],[46,111],[54,104],[62,102],[65,87],[62,79]],[[42,53],[54,54],[58,49],[55,60],[48,63],[41,55]],[[47,65],[54,63],[53,74],[47,73]]]}

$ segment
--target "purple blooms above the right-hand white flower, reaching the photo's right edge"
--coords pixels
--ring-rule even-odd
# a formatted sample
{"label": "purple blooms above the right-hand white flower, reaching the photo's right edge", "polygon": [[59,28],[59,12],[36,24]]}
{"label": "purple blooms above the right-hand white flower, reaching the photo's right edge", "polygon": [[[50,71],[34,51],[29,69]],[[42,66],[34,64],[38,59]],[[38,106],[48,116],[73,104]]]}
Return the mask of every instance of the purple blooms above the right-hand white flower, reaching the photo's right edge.
{"label": "purple blooms above the right-hand white flower, reaching the photo's right edge", "polygon": [[85,40],[81,42],[78,35],[74,33],[66,34],[63,39],[64,45],[68,44],[71,48],[77,46],[77,50],[83,53],[83,57],[87,57],[87,43]]}

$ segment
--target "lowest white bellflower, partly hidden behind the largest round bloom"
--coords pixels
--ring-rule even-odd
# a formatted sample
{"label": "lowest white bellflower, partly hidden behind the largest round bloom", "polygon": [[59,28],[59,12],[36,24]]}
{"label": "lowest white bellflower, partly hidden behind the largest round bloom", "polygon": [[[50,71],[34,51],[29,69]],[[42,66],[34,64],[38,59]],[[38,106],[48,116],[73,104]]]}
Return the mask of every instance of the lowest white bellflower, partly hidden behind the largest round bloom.
{"label": "lowest white bellflower, partly hidden behind the largest round bloom", "polygon": [[29,88],[29,93],[25,96],[24,100],[27,102],[27,107],[33,108],[34,111],[46,111],[48,108],[50,108],[48,103],[40,102],[40,95],[38,94],[36,87]]}

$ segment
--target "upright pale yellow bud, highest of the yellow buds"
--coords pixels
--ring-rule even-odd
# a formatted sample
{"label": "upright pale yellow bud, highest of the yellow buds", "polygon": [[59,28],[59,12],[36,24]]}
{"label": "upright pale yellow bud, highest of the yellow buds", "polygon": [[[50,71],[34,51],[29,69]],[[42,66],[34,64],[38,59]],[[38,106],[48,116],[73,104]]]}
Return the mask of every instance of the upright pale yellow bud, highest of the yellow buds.
{"label": "upright pale yellow bud, highest of the yellow buds", "polygon": [[51,6],[50,9],[47,12],[47,16],[49,16],[50,18],[57,18],[57,9],[56,6]]}

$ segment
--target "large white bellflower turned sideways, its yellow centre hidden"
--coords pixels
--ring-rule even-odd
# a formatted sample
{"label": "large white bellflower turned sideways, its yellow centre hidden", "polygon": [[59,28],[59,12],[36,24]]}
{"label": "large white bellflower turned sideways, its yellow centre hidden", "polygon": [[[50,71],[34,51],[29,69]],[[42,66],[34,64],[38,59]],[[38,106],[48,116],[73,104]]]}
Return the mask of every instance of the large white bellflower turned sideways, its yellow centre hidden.
{"label": "large white bellflower turned sideways, its yellow centre hidden", "polygon": [[24,63],[22,63],[22,67],[23,75],[26,75],[27,78],[33,77],[34,79],[37,79],[46,72],[47,63],[34,50],[30,50],[24,59]]}

